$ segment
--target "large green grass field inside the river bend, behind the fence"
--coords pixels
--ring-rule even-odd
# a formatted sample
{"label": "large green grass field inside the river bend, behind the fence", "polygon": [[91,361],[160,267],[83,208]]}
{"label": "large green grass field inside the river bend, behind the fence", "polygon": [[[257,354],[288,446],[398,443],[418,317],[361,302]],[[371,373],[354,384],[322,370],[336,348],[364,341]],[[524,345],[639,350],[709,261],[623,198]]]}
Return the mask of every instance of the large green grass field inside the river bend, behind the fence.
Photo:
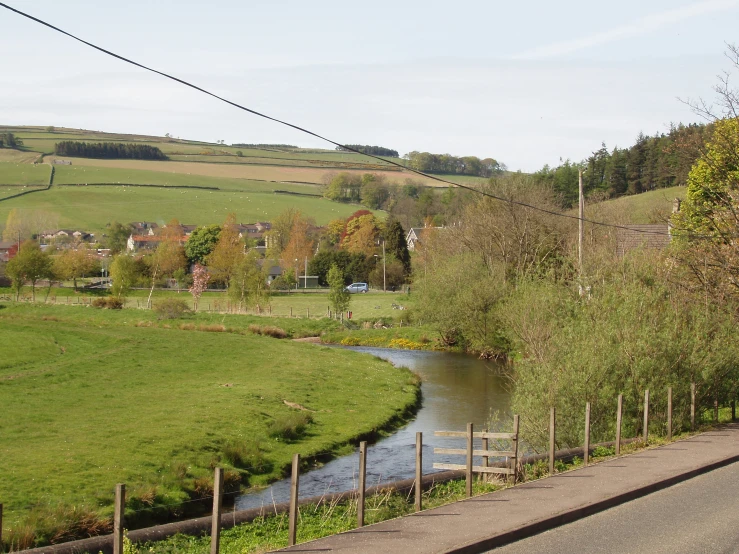
{"label": "large green grass field inside the river bend, behind the fence", "polygon": [[[335,451],[416,400],[408,371],[246,331],[260,318],[231,316],[238,324],[222,332],[223,316],[211,314],[157,322],[134,310],[0,307],[8,543],[49,540],[79,514],[109,516],[118,482],[129,510],[207,493],[214,465],[232,480],[266,482],[292,453]],[[145,520],[128,515],[132,526]]]}

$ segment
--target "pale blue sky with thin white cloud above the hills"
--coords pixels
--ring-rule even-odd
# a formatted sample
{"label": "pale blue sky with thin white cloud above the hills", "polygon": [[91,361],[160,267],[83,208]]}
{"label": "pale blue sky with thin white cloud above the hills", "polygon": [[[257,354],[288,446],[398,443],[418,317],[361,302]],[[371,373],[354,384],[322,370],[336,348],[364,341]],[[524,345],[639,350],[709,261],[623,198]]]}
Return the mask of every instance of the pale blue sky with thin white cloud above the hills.
{"label": "pale blue sky with thin white cloud above the hills", "polygon": [[[2,0],[337,142],[535,171],[700,118],[739,0]],[[0,124],[332,148],[0,8]]]}

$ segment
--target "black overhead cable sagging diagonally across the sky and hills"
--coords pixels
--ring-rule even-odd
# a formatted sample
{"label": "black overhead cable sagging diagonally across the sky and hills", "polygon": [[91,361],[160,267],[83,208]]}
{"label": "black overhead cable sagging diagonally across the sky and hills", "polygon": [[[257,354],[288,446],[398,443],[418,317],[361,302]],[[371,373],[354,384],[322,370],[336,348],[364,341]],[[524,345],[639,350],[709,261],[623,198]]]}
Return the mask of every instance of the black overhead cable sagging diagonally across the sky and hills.
{"label": "black overhead cable sagging diagonally across the sky and hills", "polygon": [[[131,64],[131,65],[136,66],[138,68],[141,68],[141,69],[143,69],[145,71],[150,71],[152,73],[156,73],[157,75],[160,75],[162,77],[165,77],[166,79],[170,79],[172,81],[175,81],[177,83],[180,83],[181,85],[184,85],[186,87],[189,87],[189,88],[192,88],[194,90],[197,90],[198,92],[202,92],[203,94],[207,94],[208,96],[212,96],[213,98],[215,98],[217,100],[220,100],[221,102],[225,102],[226,104],[229,104],[229,105],[231,105],[231,106],[233,106],[235,108],[238,108],[240,110],[243,110],[245,112],[248,112],[248,113],[250,113],[252,115],[256,115],[258,117],[267,119],[269,121],[274,121],[275,123],[279,123],[280,125],[285,125],[286,127],[290,127],[292,129],[295,129],[296,131],[300,131],[301,133],[305,133],[307,135],[316,137],[316,138],[321,139],[321,140],[323,140],[325,142],[328,142],[330,144],[333,144],[334,146],[338,146],[340,148],[343,148],[344,150],[348,150],[350,152],[354,152],[356,154],[360,154],[360,155],[366,156],[368,158],[373,158],[375,160],[379,160],[379,161],[381,161],[381,162],[383,162],[385,164],[389,164],[389,165],[393,165],[393,166],[399,167],[399,168],[401,168],[404,171],[409,171],[411,173],[414,173],[416,175],[420,175],[420,176],[425,177],[427,179],[431,179],[433,181],[437,181],[439,183],[444,183],[444,184],[451,185],[451,186],[454,186],[454,187],[458,187],[458,188],[461,188],[461,189],[469,190],[471,192],[480,194],[482,196],[486,196],[486,197],[492,198],[494,200],[499,200],[500,202],[507,202],[508,204],[512,204],[512,205],[516,205],[516,206],[521,206],[521,207],[524,207],[524,208],[528,208],[528,209],[531,209],[531,210],[535,210],[535,211],[538,211],[538,212],[541,212],[541,213],[545,213],[545,214],[549,214],[549,215],[556,216],[556,217],[564,217],[564,218],[567,218],[567,219],[574,219],[576,221],[584,221],[584,222],[590,223],[592,225],[598,225],[598,226],[601,226],[601,227],[610,227],[610,228],[613,228],[613,229],[623,229],[623,230],[627,230],[627,231],[633,231],[635,233],[642,233],[642,234],[645,234],[645,235],[661,235],[661,236],[670,236],[671,235],[671,233],[669,233],[669,232],[653,231],[653,230],[650,230],[650,229],[639,229],[639,228],[635,228],[635,227],[629,227],[627,225],[617,225],[617,224],[614,224],[614,223],[605,223],[603,221],[595,221],[595,220],[592,220],[592,219],[580,218],[580,217],[578,217],[576,215],[571,215],[571,214],[567,214],[567,213],[555,212],[554,210],[549,210],[547,208],[542,208],[540,206],[535,206],[535,205],[529,204],[527,202],[520,202],[518,200],[513,200],[511,198],[505,198],[505,197],[502,197],[502,196],[497,196],[495,194],[492,194],[492,193],[489,193],[489,192],[486,192],[486,191],[482,191],[482,190],[476,189],[474,187],[470,187],[470,186],[467,186],[467,185],[462,185],[460,183],[455,183],[453,181],[449,181],[447,179],[443,179],[443,178],[437,177],[435,175],[430,175],[428,173],[424,173],[423,171],[419,171],[417,169],[413,169],[413,168],[407,167],[407,166],[405,166],[403,164],[400,164],[398,162],[394,162],[392,160],[386,160],[385,158],[381,158],[380,156],[375,156],[373,154],[367,154],[365,152],[361,152],[360,150],[358,150],[356,148],[352,148],[351,146],[347,146],[345,144],[341,144],[340,142],[336,142],[335,140],[331,140],[330,138],[324,137],[324,136],[322,136],[322,135],[320,135],[318,133],[315,133],[315,132],[313,132],[313,131],[311,131],[309,129],[306,129],[304,127],[300,127],[299,125],[296,125],[294,123],[290,123],[289,121],[284,121],[282,119],[278,119],[276,117],[272,117],[270,115],[267,115],[265,113],[259,112],[257,110],[253,110],[251,108],[247,108],[246,106],[242,106],[241,104],[239,104],[237,102],[234,102],[232,100],[229,100],[228,98],[224,98],[222,96],[219,96],[219,95],[215,94],[214,92],[211,92],[211,91],[209,91],[207,89],[204,89],[202,87],[199,87],[198,85],[195,85],[193,83],[190,83],[189,81],[185,81],[184,79],[180,79],[179,77],[175,77],[174,75],[170,75],[169,73],[165,73],[164,71],[159,71],[158,69],[151,68],[151,67],[146,66],[146,65],[144,65],[142,63],[139,63],[139,62],[136,62],[136,61],[131,60],[129,58],[126,58],[125,56],[121,56],[120,54],[116,54],[115,52],[112,52],[110,50],[106,50],[105,48],[102,48],[101,46],[98,46],[96,44],[93,44],[92,42],[88,42],[88,41],[86,41],[86,40],[84,40],[84,39],[82,39],[82,38],[80,38],[78,36],[73,35],[72,33],[69,33],[69,32],[67,32],[67,31],[65,31],[63,29],[60,29],[56,25],[52,25],[51,23],[48,23],[48,22],[46,22],[46,21],[44,21],[42,19],[39,19],[38,17],[34,17],[34,16],[32,16],[32,15],[26,13],[26,12],[23,12],[23,11],[21,11],[19,9],[16,9],[16,8],[12,7],[12,6],[9,6],[8,4],[5,4],[3,2],[0,2],[0,6],[3,7],[3,8],[5,8],[5,9],[7,9],[7,10],[10,10],[12,12],[17,13],[18,15],[21,15],[23,17],[26,17],[26,18],[30,19],[31,21],[35,21],[36,23],[39,23],[40,25],[43,25],[45,27],[48,27],[49,29],[52,29],[52,30],[54,30],[54,31],[56,31],[58,33],[61,33],[63,35],[66,35],[66,36],[68,36],[71,39],[74,39],[74,40],[76,40],[78,42],[81,42],[82,44],[84,44],[86,46],[89,46],[90,48],[94,48],[95,50],[98,50],[98,51],[102,52],[103,54],[107,54],[108,56],[112,56],[113,58],[117,58],[118,60],[121,60],[122,62]],[[696,235],[692,235],[692,236],[694,238],[698,238]],[[700,237],[700,238],[715,238],[715,237]]]}

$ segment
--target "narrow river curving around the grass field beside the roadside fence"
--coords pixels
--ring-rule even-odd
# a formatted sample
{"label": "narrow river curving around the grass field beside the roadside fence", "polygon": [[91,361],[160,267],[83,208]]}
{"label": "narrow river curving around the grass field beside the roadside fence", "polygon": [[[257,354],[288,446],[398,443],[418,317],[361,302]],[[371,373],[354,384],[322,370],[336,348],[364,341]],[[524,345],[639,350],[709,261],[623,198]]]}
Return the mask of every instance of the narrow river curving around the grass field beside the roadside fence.
{"label": "narrow river curving around the grass field beside the roadside fence", "polygon": [[[494,412],[508,411],[510,395],[501,364],[463,354],[389,348],[349,347],[405,366],[422,380],[423,404],[415,419],[367,448],[367,486],[415,476],[416,432],[423,432],[423,472],[434,462],[464,463],[463,456],[434,455],[434,447],[464,448],[464,439],[434,437],[434,431],[464,431],[467,423],[482,429]],[[478,463],[478,462],[476,462]],[[358,449],[300,476],[300,496],[320,496],[356,487]],[[265,489],[236,499],[236,509],[269,506],[290,499],[290,481],[283,479]]]}

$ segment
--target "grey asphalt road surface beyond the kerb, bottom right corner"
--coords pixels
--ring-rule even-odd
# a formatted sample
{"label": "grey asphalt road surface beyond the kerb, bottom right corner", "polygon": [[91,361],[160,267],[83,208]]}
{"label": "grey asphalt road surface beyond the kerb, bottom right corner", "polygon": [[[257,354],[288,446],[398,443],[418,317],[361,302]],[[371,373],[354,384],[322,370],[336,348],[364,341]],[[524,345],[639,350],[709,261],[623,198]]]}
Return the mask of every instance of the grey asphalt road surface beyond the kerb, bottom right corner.
{"label": "grey asphalt road surface beyond the kerb, bottom right corner", "polygon": [[490,552],[739,552],[739,463]]}

